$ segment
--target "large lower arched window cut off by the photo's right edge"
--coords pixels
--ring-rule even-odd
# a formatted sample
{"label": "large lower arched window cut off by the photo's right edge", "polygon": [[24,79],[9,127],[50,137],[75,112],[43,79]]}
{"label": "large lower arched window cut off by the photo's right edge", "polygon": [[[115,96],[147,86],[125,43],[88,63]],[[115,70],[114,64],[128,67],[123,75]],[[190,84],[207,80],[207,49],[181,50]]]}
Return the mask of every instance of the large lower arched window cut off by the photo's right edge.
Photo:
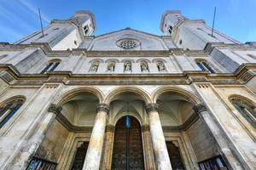
{"label": "large lower arched window cut off by the photo's right edge", "polygon": [[243,99],[232,98],[230,99],[232,105],[234,105],[241,113],[247,122],[249,122],[254,128],[256,127],[256,108],[254,105],[248,103]]}

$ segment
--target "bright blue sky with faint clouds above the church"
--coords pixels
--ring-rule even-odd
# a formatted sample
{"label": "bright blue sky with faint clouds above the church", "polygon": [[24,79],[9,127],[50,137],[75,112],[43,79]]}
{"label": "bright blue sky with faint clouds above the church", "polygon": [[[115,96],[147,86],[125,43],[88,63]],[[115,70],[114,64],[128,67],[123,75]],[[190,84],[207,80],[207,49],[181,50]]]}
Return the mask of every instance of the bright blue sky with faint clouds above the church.
{"label": "bright blue sky with faint clouds above the church", "polygon": [[0,0],[0,42],[15,42],[53,19],[67,19],[76,10],[88,9],[96,16],[95,35],[131,27],[162,35],[160,17],[168,9],[182,10],[190,19],[204,19],[216,29],[241,42],[256,41],[256,0]]}

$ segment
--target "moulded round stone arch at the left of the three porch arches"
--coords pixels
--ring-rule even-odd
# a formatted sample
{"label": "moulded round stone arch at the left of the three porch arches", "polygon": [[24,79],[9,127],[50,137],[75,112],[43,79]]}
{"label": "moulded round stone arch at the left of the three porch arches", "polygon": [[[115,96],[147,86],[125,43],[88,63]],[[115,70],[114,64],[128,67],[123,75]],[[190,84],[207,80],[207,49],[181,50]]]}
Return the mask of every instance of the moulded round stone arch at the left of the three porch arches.
{"label": "moulded round stone arch at the left of the three porch arches", "polygon": [[98,88],[83,87],[83,88],[74,88],[72,90],[68,90],[64,94],[61,94],[59,98],[55,99],[53,103],[55,105],[61,105],[67,102],[69,99],[72,99],[74,96],[83,94],[83,93],[94,94],[96,98],[99,100],[99,103],[102,103],[103,101],[103,94]]}

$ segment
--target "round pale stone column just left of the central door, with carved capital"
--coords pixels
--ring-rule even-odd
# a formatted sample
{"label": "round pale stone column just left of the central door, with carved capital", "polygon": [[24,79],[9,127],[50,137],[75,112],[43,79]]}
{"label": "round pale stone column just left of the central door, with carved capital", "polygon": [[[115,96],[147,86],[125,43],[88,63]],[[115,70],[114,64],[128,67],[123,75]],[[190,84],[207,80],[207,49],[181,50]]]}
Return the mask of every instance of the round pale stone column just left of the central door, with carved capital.
{"label": "round pale stone column just left of the central door, with carved capital", "polygon": [[109,106],[99,104],[97,105],[96,111],[96,121],[90,136],[90,143],[85,156],[83,170],[98,170],[100,168]]}

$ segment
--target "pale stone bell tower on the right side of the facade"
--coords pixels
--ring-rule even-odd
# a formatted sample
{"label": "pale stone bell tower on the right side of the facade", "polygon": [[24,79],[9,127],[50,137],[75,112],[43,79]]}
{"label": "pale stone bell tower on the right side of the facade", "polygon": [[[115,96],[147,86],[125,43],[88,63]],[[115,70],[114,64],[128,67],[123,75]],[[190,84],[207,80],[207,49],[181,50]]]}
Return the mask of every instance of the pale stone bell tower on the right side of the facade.
{"label": "pale stone bell tower on the right side of the facade", "polygon": [[171,36],[178,48],[204,49],[208,42],[240,43],[235,39],[207,26],[205,20],[189,20],[180,11],[166,11],[162,15],[160,30]]}

